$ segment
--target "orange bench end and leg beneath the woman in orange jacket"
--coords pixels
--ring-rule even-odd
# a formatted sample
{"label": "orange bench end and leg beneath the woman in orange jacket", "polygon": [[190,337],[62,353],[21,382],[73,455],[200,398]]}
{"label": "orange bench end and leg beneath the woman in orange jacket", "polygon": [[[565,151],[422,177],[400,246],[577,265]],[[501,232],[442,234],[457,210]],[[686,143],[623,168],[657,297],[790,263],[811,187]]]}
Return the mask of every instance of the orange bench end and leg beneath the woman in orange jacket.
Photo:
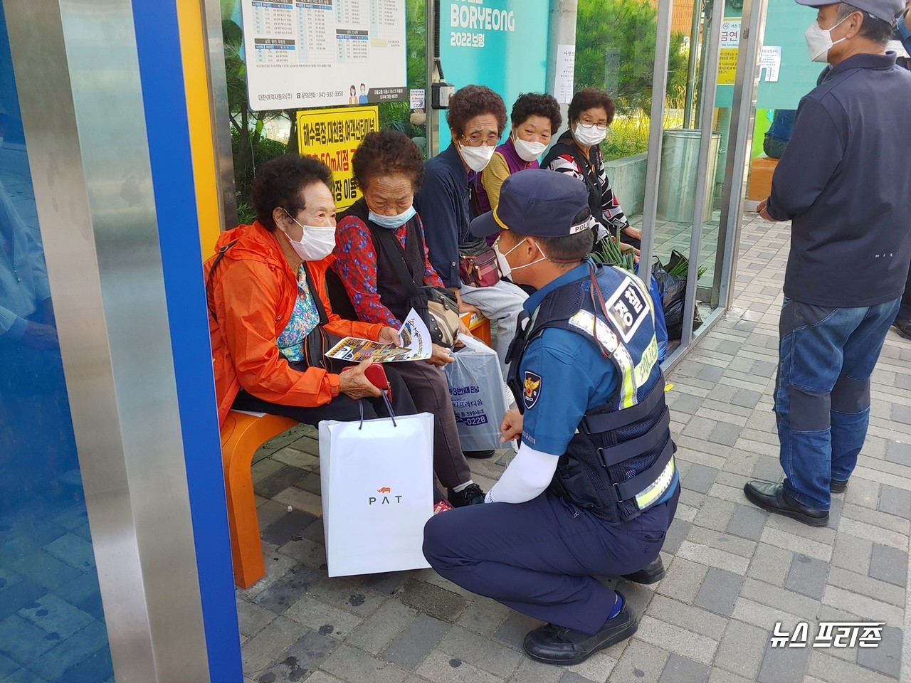
{"label": "orange bench end and leg beneath the woman in orange jacket", "polygon": [[263,443],[291,429],[290,417],[231,411],[221,426],[221,464],[228,498],[230,555],[234,583],[249,588],[266,574],[262,560],[260,520],[253,497],[253,454]]}

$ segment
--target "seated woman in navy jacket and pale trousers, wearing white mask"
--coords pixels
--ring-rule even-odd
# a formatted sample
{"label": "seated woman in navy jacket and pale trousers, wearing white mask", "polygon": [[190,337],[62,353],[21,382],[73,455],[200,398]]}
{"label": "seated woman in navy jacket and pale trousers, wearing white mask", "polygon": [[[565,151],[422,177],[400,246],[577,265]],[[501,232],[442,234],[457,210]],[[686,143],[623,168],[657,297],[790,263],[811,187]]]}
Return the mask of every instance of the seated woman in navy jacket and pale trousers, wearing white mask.
{"label": "seated woman in navy jacket and pale trousers, wearing white mask", "polygon": [[466,86],[449,98],[446,123],[449,147],[425,164],[424,185],[417,211],[424,219],[430,262],[446,287],[456,293],[462,312],[481,312],[496,321],[496,353],[507,375],[507,351],[516,336],[516,323],[527,294],[512,282],[498,280],[488,287],[466,283],[459,275],[460,250],[486,247],[468,232],[468,223],[482,213],[475,183],[494,156],[507,125],[503,98],[489,87]]}

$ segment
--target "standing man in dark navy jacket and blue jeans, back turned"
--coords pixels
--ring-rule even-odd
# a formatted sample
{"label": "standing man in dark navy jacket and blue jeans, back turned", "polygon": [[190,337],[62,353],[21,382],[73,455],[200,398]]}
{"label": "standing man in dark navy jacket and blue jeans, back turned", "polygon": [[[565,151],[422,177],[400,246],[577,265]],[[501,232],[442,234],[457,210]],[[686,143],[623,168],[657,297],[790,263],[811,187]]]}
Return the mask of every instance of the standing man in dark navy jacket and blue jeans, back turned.
{"label": "standing man in dark navy jacket and blue jeans, back turned", "polygon": [[911,73],[885,52],[904,2],[854,2],[818,7],[806,31],[811,58],[833,68],[801,101],[759,206],[792,221],[775,386],[785,479],[744,493],[814,526],[864,445],[870,375],[911,261]]}

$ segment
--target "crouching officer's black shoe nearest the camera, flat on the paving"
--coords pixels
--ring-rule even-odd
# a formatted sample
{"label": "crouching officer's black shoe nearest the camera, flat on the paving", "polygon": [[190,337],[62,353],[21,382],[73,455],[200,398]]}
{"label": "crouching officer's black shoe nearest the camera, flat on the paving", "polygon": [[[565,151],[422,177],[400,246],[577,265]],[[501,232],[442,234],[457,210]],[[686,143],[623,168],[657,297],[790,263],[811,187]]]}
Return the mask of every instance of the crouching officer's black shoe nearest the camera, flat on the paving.
{"label": "crouching officer's black shoe nearest the camera, flat on the paving", "polygon": [[525,654],[545,664],[572,666],[594,655],[605,647],[626,640],[636,633],[639,623],[632,612],[624,607],[619,615],[608,619],[594,636],[575,628],[545,624],[529,631],[525,637]]}

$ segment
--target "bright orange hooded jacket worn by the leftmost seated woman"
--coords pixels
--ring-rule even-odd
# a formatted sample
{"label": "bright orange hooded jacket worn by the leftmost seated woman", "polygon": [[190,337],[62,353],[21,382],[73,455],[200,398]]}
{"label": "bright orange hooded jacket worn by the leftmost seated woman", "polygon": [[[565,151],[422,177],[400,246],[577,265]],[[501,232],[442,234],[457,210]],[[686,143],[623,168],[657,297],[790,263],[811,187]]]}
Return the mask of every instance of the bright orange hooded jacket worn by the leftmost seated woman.
{"label": "bright orange hooded jacket worn by the leftmost seated woman", "polygon": [[[212,370],[219,403],[219,422],[224,423],[241,387],[263,401],[300,405],[324,405],[339,393],[339,376],[309,368],[292,370],[279,352],[277,341],[291,318],[297,299],[297,273],[281,253],[278,240],[259,221],[221,233],[215,251],[237,240],[225,252],[214,272],[216,257],[205,263],[212,342]],[[330,308],[326,294],[329,256],[307,261],[316,294],[322,300],[329,322],[325,329],[340,337],[376,340],[383,325],[344,321]]]}

